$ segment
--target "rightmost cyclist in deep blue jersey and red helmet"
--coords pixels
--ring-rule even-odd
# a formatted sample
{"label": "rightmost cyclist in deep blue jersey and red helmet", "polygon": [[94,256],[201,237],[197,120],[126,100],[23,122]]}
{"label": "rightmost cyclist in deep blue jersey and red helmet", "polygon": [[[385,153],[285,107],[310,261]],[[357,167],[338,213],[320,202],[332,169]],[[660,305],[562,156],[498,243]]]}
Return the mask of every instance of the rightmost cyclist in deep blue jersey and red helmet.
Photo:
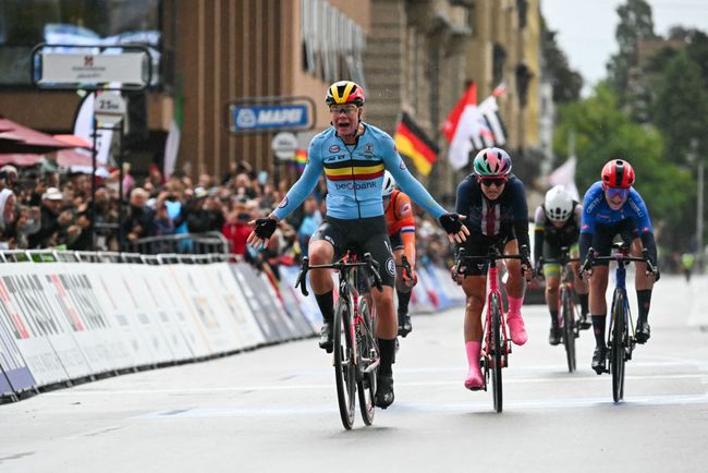
{"label": "rightmost cyclist in deep blue jersey and red helmet", "polygon": [[[635,256],[647,248],[651,264],[657,267],[657,243],[649,219],[649,211],[642,196],[632,187],[634,169],[623,159],[612,159],[602,168],[601,180],[585,193],[583,201],[583,222],[581,225],[581,255],[585,257],[590,247],[597,256],[609,256],[612,240],[620,235]],[[607,345],[605,323],[607,301],[605,299],[608,279],[608,262],[593,262],[590,277],[590,313],[595,332],[593,369],[599,375],[606,369]],[[659,279],[646,274],[646,263],[636,263],[635,287],[639,314],[636,325],[637,343],[646,343],[650,337],[649,306],[654,281]]]}

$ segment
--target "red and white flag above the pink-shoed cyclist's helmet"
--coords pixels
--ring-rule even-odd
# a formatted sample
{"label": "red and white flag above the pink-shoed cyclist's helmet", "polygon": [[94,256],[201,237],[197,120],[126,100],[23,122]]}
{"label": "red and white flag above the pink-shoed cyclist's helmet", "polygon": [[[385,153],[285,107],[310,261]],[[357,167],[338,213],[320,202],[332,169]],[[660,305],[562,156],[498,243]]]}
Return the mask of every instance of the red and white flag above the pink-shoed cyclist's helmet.
{"label": "red and white flag above the pink-shoed cyclist's helmet", "polygon": [[477,108],[477,86],[472,84],[452,109],[442,125],[442,133],[450,142],[448,160],[454,169],[469,162],[473,149],[481,149],[493,143],[493,134],[485,117]]}

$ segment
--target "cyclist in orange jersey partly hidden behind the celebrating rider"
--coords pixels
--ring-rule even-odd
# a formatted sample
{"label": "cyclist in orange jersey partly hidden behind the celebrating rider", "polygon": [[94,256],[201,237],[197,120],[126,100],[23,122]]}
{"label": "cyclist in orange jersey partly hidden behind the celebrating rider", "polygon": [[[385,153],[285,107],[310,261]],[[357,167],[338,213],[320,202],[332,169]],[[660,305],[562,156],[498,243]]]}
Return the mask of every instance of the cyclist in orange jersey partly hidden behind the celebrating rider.
{"label": "cyclist in orange jersey partly hidden behind the celebrating rider", "polygon": [[[383,208],[386,210],[386,225],[389,229],[389,239],[395,260],[395,292],[399,298],[399,335],[407,336],[413,326],[408,303],[411,291],[418,282],[415,274],[415,217],[411,197],[395,189],[395,179],[389,171],[383,173]],[[403,256],[411,266],[411,272],[403,270]]]}

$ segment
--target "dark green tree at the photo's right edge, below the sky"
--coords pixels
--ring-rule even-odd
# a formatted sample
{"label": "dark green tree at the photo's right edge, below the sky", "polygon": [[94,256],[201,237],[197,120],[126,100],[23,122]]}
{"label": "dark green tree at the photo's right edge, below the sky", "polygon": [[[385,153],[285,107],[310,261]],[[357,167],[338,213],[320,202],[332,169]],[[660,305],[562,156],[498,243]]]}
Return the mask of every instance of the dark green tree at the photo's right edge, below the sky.
{"label": "dark green tree at the photo's right edge, below the sky", "polygon": [[692,141],[700,156],[708,156],[708,92],[699,65],[687,50],[682,50],[666,64],[657,84],[652,107],[654,123],[661,130],[664,155],[676,163],[692,165]]}

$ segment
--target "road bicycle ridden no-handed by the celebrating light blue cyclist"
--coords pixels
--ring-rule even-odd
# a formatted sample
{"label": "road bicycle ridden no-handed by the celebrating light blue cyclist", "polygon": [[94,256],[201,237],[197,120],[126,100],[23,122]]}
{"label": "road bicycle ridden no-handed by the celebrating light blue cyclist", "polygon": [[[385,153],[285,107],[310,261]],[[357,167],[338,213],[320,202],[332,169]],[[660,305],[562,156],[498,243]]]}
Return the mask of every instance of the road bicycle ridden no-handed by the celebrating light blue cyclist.
{"label": "road bicycle ridden no-handed by the celebrating light blue cyclist", "polygon": [[368,279],[374,281],[379,291],[382,289],[378,264],[370,253],[365,253],[364,257],[359,258],[353,248],[347,252],[345,258],[331,265],[310,266],[309,258],[304,257],[295,288],[300,286],[305,296],[309,294],[305,281],[310,269],[334,269],[340,276],[339,299],[332,327],[332,356],[342,424],[347,430],[354,425],[355,395],[358,391],[362,417],[366,425],[371,425],[380,354],[375,331],[376,315],[369,310],[366,298],[359,294],[358,288],[362,287],[362,281]]}

